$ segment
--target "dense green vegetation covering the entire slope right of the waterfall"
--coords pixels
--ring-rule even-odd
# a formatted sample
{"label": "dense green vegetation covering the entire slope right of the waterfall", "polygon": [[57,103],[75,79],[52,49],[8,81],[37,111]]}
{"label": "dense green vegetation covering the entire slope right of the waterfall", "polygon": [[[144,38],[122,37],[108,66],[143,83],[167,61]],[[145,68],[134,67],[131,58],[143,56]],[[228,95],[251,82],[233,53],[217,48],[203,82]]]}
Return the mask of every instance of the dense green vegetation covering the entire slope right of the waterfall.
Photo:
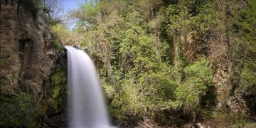
{"label": "dense green vegetation covering the entire slope right of the waterfall", "polygon": [[230,73],[222,85],[231,86],[229,100],[255,99],[255,9],[255,0],[100,0],[70,11],[70,18],[113,116],[165,122],[175,112],[198,119],[213,111],[222,95],[213,81],[221,66]]}

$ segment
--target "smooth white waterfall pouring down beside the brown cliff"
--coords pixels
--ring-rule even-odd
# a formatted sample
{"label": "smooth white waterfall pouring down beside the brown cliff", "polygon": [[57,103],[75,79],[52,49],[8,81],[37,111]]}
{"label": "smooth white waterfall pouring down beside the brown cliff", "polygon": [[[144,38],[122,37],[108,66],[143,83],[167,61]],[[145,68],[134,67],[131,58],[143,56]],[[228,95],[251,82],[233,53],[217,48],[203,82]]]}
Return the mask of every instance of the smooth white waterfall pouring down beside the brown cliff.
{"label": "smooth white waterfall pouring down beside the brown cliff", "polygon": [[82,50],[68,50],[68,123],[69,127],[107,128],[107,116],[102,90],[90,57]]}

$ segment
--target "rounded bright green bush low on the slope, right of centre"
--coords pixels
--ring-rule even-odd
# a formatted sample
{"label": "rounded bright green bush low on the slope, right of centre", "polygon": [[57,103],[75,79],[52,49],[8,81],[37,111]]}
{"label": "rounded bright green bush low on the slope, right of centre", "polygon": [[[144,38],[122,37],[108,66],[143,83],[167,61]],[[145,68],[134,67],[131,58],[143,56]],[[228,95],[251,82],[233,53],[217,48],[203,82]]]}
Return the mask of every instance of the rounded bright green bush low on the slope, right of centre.
{"label": "rounded bright green bush low on the slope, right of centre", "polygon": [[176,90],[177,100],[183,102],[187,108],[197,109],[201,97],[206,95],[209,87],[213,85],[212,70],[208,60],[201,58],[192,65],[184,68],[185,80]]}

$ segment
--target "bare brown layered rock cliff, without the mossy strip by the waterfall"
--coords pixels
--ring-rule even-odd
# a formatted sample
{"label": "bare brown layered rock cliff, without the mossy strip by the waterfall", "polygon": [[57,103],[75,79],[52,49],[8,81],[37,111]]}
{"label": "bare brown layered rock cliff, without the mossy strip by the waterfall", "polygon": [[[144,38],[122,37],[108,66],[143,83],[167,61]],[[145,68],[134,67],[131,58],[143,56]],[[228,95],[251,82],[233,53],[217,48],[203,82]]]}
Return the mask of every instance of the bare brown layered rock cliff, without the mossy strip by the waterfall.
{"label": "bare brown layered rock cliff, without the mossy strip by the waterfall", "polygon": [[50,31],[39,16],[33,18],[16,1],[1,3],[0,20],[1,95],[14,94],[23,81],[33,95],[41,97],[55,54]]}

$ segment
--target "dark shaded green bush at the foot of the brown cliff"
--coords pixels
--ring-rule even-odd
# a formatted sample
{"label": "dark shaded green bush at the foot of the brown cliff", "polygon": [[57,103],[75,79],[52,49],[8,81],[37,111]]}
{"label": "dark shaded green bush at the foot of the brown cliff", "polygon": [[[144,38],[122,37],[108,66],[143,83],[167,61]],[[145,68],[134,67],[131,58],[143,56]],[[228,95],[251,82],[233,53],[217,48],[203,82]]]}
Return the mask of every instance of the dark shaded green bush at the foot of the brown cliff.
{"label": "dark shaded green bush at the foot of the brown cliff", "polygon": [[18,93],[11,97],[0,97],[1,127],[36,127],[38,111],[31,97]]}

